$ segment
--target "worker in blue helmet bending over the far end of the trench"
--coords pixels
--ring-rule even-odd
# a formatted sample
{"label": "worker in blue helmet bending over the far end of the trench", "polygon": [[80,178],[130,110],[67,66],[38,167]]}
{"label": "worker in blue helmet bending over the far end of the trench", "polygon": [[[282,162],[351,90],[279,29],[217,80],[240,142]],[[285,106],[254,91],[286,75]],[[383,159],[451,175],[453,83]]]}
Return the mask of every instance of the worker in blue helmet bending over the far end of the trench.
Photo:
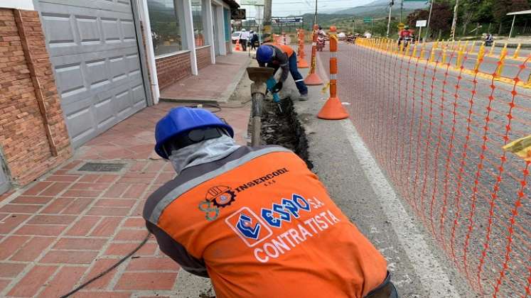
{"label": "worker in blue helmet bending over the far end of the trench", "polygon": [[280,43],[264,43],[258,47],[257,50],[258,65],[264,67],[274,68],[275,72],[282,68],[282,73],[275,85],[274,89],[280,90],[286,79],[288,73],[291,72],[291,77],[295,80],[297,89],[299,89],[299,100],[308,100],[308,87],[304,83],[304,78],[297,69],[297,54],[289,45],[281,45]]}

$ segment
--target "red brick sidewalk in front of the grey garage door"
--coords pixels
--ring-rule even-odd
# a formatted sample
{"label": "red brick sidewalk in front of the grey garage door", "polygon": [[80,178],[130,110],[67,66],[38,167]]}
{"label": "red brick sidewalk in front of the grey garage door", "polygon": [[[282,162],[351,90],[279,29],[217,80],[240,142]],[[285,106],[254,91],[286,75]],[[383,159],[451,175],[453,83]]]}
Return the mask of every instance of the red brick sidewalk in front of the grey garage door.
{"label": "red brick sidewalk in front of the grey garage door", "polygon": [[[153,151],[154,125],[173,106],[144,109],[0,202],[0,297],[58,297],[144,239],[144,200],[174,176]],[[218,112],[240,144],[246,142],[249,113],[248,105]],[[117,173],[79,171],[87,161],[125,167]],[[175,297],[178,269],[150,238],[133,258],[73,297]]]}

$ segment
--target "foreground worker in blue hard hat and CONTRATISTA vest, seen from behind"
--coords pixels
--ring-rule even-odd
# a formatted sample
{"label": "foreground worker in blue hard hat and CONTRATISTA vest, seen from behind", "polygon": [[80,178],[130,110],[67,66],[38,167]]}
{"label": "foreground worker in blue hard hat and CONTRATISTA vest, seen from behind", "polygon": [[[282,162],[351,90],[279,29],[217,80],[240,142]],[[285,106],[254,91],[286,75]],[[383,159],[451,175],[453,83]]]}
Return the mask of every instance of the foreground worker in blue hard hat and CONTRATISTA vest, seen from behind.
{"label": "foreground worker in blue hard hat and CONTRATISTA vest, seen from behind", "polygon": [[236,145],[203,109],[172,109],[155,150],[177,177],[144,206],[163,253],[216,297],[397,297],[378,250],[286,148]]}

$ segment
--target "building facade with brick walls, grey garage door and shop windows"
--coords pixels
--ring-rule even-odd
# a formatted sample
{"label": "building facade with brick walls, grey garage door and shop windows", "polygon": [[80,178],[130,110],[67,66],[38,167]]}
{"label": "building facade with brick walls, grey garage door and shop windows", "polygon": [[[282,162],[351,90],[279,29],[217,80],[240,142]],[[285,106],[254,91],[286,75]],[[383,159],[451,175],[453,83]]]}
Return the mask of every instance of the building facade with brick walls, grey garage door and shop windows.
{"label": "building facade with brick walls, grey garage door and shop windows", "polygon": [[0,3],[0,194],[230,53],[233,0]]}

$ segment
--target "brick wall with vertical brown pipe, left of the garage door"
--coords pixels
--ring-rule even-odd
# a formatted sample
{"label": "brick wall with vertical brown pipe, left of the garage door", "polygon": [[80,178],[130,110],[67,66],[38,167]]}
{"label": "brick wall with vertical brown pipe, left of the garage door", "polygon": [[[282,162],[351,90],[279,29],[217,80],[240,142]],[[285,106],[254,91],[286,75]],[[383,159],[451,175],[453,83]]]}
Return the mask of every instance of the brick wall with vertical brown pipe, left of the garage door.
{"label": "brick wall with vertical brown pipe, left of the garage door", "polygon": [[0,9],[0,90],[0,147],[25,185],[72,155],[36,11]]}

